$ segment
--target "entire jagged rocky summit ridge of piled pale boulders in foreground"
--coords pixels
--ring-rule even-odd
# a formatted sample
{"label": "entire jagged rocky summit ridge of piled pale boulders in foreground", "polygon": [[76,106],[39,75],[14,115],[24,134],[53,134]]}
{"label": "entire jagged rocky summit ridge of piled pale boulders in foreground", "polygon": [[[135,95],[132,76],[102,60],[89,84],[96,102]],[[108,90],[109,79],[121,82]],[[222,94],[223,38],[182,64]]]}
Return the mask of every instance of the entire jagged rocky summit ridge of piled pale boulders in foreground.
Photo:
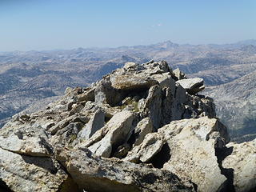
{"label": "entire jagged rocky summit ridge of piled pale boulders in foreground", "polygon": [[253,191],[256,140],[229,143],[202,78],[127,62],[0,130],[1,191]]}

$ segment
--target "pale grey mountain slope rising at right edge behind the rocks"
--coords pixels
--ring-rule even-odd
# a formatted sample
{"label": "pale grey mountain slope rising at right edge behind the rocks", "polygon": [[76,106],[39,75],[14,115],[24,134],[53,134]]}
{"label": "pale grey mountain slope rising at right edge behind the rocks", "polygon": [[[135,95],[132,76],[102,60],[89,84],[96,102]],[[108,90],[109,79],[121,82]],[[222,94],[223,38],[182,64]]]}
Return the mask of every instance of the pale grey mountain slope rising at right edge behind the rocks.
{"label": "pale grey mountain slope rising at right edge behind the rocks", "polygon": [[[256,137],[256,70],[232,82],[206,88],[234,140]],[[241,138],[242,135],[245,135]]]}

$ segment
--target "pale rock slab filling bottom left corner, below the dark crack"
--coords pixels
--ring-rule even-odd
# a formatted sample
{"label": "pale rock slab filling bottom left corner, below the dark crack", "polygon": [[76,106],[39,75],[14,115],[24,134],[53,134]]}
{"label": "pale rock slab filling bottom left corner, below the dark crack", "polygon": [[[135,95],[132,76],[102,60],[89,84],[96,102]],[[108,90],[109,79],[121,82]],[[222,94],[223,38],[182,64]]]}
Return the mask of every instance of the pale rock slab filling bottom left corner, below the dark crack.
{"label": "pale rock slab filling bottom left corner, below the dark crack", "polygon": [[14,154],[0,148],[0,180],[10,190],[58,191],[68,175],[57,161]]}

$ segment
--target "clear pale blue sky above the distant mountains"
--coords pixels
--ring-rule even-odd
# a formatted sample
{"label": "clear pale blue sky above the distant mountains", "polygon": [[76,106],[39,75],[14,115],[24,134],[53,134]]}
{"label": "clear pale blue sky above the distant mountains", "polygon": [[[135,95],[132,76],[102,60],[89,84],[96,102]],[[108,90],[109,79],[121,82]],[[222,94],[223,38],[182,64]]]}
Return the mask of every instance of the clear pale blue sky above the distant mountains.
{"label": "clear pale blue sky above the distant mountains", "polygon": [[0,0],[0,51],[256,38],[255,0]]}

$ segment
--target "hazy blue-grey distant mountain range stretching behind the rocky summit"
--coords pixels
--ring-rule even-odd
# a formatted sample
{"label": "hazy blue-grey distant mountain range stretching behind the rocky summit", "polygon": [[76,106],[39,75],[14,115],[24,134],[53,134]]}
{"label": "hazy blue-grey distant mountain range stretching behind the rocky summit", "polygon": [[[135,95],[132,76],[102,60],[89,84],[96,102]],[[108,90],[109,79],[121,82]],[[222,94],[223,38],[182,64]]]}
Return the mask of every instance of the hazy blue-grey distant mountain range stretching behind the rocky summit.
{"label": "hazy blue-grey distant mountain range stretching behind the rocky summit", "polygon": [[[46,106],[67,86],[88,86],[126,62],[166,60],[189,77],[205,79],[218,115],[233,138],[254,137],[256,40],[233,44],[78,48],[0,53],[0,126],[12,115]],[[41,103],[41,104],[40,104]]]}

